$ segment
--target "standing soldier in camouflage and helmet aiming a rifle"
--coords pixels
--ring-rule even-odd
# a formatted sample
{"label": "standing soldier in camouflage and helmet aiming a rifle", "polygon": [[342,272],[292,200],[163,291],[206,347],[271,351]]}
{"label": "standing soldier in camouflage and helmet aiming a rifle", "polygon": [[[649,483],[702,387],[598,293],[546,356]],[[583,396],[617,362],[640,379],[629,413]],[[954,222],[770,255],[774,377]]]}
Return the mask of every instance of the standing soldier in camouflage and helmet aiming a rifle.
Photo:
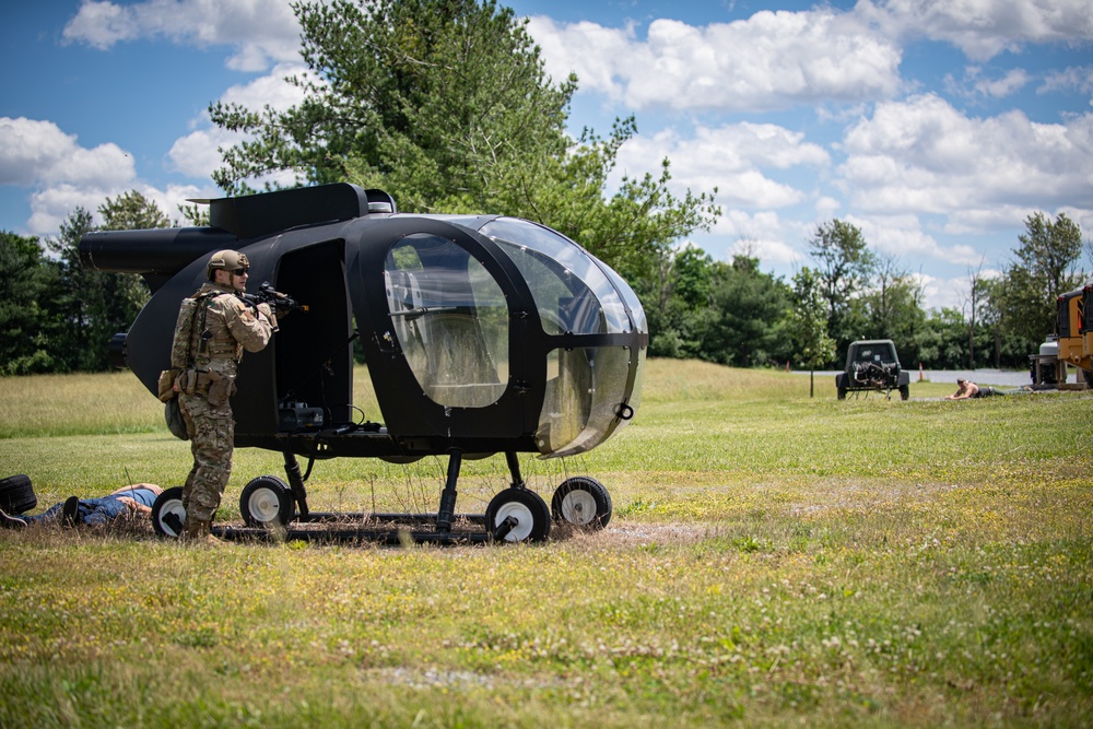
{"label": "standing soldier in camouflage and helmet aiming a rifle", "polygon": [[235,250],[219,250],[205,267],[205,283],[183,301],[175,325],[171,366],[174,389],[190,437],[193,468],[183,486],[186,538],[215,542],[213,516],[232,474],[235,392],[243,351],[259,352],[277,331],[269,304],[243,298],[250,263]]}

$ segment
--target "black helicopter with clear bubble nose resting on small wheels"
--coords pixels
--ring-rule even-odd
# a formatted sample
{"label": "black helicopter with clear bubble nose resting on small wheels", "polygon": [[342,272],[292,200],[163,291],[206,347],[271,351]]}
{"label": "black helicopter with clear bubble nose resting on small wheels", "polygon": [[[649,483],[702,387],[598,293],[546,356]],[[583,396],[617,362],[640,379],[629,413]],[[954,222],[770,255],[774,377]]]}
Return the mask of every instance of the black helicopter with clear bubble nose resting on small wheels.
{"label": "black helicopter with clear bubble nose resting on small wheels", "polygon": [[[179,305],[203,282],[214,250],[246,254],[251,281],[307,305],[282,321],[269,346],[243,358],[232,401],[236,446],[283,454],[287,480],[250,481],[239,503],[247,528],[214,533],[279,528],[291,539],[401,539],[393,530],[297,528],[355,516],[307,505],[314,462],[339,457],[447,456],[435,515],[359,515],[415,519],[418,541],[538,541],[552,518],[607,524],[602,484],[566,479],[548,507],[525,484],[517,454],[588,451],[637,410],[648,327],[637,296],[610,267],[543,225],[398,213],[389,195],[349,184],[202,202],[208,227],[93,232],[80,256],[86,267],[148,282],[151,298],[110,352],[153,393],[169,366]],[[368,364],[383,425],[354,418],[354,346]],[[462,459],[502,452],[510,486],[484,515],[465,515],[483,524],[481,532],[454,532]],[[308,459],[306,472],[297,457]],[[168,489],[153,525],[178,536],[184,519],[181,490]]]}

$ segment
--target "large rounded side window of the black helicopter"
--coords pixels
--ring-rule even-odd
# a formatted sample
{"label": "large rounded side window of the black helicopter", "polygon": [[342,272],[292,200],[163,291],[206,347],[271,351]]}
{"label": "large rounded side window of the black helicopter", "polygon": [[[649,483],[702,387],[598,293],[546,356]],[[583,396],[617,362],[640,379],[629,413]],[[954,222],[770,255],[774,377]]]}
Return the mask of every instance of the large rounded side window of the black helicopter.
{"label": "large rounded side window of the black helicopter", "polygon": [[454,242],[411,235],[384,270],[407,364],[435,403],[484,408],[508,387],[508,305],[489,271]]}

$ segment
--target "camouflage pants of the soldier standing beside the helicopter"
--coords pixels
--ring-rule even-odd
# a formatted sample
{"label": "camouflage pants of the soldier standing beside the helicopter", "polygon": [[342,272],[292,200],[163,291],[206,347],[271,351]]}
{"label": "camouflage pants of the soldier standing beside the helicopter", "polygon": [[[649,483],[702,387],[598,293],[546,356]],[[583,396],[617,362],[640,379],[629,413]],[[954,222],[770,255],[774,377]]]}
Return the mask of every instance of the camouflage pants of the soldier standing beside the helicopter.
{"label": "camouflage pants of the soldier standing beside the helicopter", "polygon": [[232,475],[235,450],[232,405],[213,407],[201,395],[179,395],[178,398],[193,454],[193,468],[183,486],[183,508],[187,521],[210,521]]}

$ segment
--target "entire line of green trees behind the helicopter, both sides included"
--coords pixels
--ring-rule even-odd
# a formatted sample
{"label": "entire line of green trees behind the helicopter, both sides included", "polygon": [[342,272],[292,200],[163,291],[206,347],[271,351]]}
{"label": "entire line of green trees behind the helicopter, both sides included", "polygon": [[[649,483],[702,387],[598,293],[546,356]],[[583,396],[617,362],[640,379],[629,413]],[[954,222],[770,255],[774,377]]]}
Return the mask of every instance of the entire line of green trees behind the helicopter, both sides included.
{"label": "entire line of green trees behind the helicopter, both sides included", "polygon": [[[828,367],[854,339],[890,338],[915,366],[1024,366],[1051,331],[1055,296],[1077,285],[1081,232],[1036,213],[1000,279],[969,271],[965,305],[927,313],[916,277],[832,220],[809,242],[810,266],[787,282],[760,270],[754,246],[715,261],[693,246],[721,214],[712,193],[669,190],[671,164],[613,179],[634,117],[610,133],[566,130],[577,78],[555,82],[527,21],[493,0],[296,2],[308,72],[286,79],[289,109],[212,104],[244,136],[221,149],[227,195],[350,181],[390,192],[404,212],[503,213],[553,227],[632,282],[654,356],[727,365]],[[289,183],[284,180],[289,179]],[[107,198],[107,230],[172,225],[140,193]],[[191,207],[180,209],[198,220]],[[106,342],[148,297],[136,275],[84,269],[73,211],[57,237],[0,232],[0,374],[97,371]]]}

